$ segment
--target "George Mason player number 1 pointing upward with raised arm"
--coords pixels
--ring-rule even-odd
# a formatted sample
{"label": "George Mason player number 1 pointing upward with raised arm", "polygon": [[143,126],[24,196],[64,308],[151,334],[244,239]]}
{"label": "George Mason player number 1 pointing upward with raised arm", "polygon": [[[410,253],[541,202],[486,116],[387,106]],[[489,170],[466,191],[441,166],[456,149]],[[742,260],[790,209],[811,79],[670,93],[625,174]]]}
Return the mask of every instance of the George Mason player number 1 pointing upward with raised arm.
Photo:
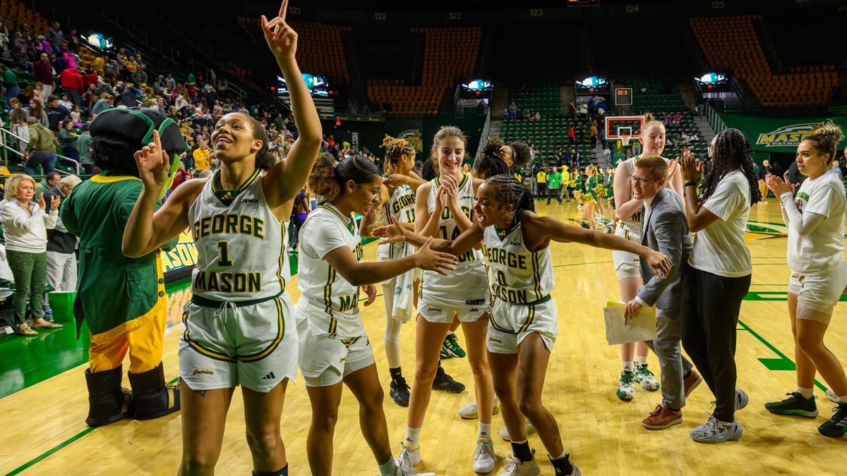
{"label": "George Mason player number 1 pointing upward with raised arm", "polygon": [[[143,256],[191,228],[197,268],[180,338],[182,463],[180,474],[213,473],[235,386],[244,397],[246,439],[257,474],[288,474],[280,415],[285,387],[296,379],[297,335],[285,252],[285,220],[321,141],[312,97],[295,60],[297,34],[285,24],[288,1],[262,29],[291,91],[300,136],[273,163],[268,136],[246,113],[229,113],[212,133],[220,169],[188,180],[153,213],[168,177],[158,143],[136,152],[141,196],[124,233],[127,256]],[[270,257],[270,259],[268,259]]]}

